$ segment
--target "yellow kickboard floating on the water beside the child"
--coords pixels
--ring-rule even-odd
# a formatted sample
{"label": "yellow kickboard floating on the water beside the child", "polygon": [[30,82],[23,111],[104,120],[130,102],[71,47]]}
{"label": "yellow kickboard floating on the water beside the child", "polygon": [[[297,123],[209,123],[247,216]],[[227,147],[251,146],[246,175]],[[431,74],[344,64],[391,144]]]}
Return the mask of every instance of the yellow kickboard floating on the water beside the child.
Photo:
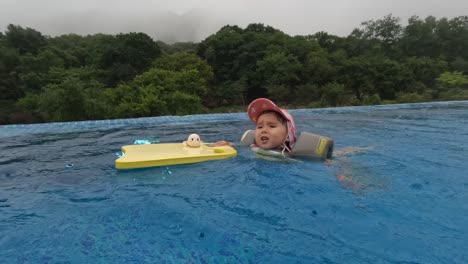
{"label": "yellow kickboard floating on the water beside the child", "polygon": [[128,145],[122,147],[122,157],[115,160],[117,169],[137,169],[226,159],[237,155],[230,146],[192,148],[183,143]]}

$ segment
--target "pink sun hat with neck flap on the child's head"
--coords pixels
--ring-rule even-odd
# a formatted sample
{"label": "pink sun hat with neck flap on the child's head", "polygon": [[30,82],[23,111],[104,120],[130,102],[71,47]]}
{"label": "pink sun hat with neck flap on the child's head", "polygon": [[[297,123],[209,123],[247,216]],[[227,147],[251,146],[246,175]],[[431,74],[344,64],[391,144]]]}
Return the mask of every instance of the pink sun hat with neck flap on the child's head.
{"label": "pink sun hat with neck flap on the child's head", "polygon": [[293,147],[296,143],[296,124],[291,114],[288,113],[285,109],[279,108],[275,103],[270,101],[267,98],[258,98],[253,100],[249,107],[247,108],[247,115],[250,120],[257,124],[258,116],[264,111],[275,111],[282,115],[286,119],[287,128],[288,128],[288,138],[289,146]]}

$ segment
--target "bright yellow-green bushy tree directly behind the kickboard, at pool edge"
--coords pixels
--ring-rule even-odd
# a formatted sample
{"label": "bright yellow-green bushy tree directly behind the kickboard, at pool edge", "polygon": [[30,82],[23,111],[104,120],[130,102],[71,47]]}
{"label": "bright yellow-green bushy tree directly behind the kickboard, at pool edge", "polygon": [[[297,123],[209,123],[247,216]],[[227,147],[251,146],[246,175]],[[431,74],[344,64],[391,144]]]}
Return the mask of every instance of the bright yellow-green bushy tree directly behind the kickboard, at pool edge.
{"label": "bright yellow-green bushy tree directly behind the kickboard, at pool edge", "polygon": [[[143,117],[201,112],[206,80],[197,70],[168,71],[159,68],[106,91],[112,117]],[[184,105],[190,102],[190,107]],[[187,107],[186,110],[183,108]]]}

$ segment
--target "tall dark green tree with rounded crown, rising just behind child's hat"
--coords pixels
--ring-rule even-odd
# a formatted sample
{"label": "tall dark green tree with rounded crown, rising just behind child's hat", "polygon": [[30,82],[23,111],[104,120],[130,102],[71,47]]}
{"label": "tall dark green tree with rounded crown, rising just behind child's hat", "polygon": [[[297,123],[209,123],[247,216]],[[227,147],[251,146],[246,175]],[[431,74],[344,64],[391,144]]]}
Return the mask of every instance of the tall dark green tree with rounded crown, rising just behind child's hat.
{"label": "tall dark green tree with rounded crown, rising just behind child's hat", "polygon": [[[266,96],[265,80],[257,72],[257,62],[266,54],[284,52],[288,49],[303,50],[287,43],[290,37],[283,32],[263,24],[250,24],[245,30],[237,26],[225,26],[216,34],[198,45],[197,54],[206,59],[214,72],[214,85],[245,85],[244,96],[249,100]],[[223,88],[217,88],[224,90]],[[219,101],[226,101],[221,98]]]}

